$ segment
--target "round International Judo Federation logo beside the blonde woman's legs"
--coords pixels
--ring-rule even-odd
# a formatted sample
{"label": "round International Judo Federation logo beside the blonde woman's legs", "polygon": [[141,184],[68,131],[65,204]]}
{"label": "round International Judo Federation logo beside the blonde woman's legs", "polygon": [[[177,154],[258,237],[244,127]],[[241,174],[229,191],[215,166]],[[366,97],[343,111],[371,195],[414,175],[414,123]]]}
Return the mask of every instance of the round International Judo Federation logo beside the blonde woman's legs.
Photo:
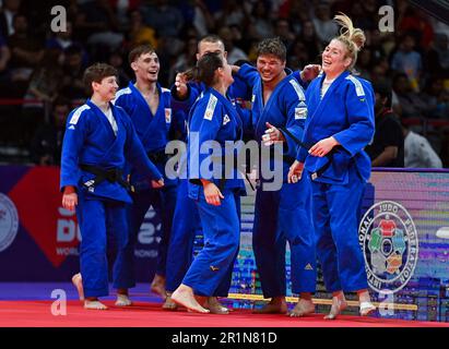
{"label": "round International Judo Federation logo beside the blonde woman's legs", "polygon": [[371,206],[358,228],[369,286],[394,293],[412,277],[418,257],[415,224],[400,204],[382,201]]}

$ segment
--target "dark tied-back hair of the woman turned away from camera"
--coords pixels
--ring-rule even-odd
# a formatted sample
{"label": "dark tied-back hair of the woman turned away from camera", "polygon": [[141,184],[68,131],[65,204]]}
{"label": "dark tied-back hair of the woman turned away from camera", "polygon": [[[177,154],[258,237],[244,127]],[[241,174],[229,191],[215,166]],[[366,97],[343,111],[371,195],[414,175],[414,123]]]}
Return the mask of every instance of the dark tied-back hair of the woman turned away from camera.
{"label": "dark tied-back hair of the woman turned away from camera", "polygon": [[208,52],[197,62],[197,65],[185,71],[188,81],[202,82],[209,87],[215,82],[215,71],[223,68],[223,57],[218,52]]}

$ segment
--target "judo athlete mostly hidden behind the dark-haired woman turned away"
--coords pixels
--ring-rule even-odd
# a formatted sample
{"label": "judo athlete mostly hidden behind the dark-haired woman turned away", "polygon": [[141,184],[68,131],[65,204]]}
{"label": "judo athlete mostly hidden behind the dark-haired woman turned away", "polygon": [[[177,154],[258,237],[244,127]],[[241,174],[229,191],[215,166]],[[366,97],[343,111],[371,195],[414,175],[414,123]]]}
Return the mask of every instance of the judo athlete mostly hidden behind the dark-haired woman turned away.
{"label": "judo athlete mostly hidden behind the dark-haired woman turned away", "polygon": [[[218,52],[223,58],[226,58],[224,44],[220,37],[208,35],[199,41],[197,58],[201,59],[208,52]],[[191,76],[188,82],[186,75],[188,74],[179,73],[176,77],[175,86],[172,89],[172,107],[182,110],[185,115],[191,116],[193,104],[208,86],[202,82],[191,81]],[[226,94],[243,117],[243,121],[246,122],[245,129],[247,130],[249,128],[248,122],[250,122],[250,110],[247,109],[247,100],[250,99],[250,89],[248,85],[241,79],[235,77],[234,83],[229,86]],[[189,120],[186,120],[186,123],[188,124]],[[177,308],[176,303],[170,301],[170,293],[181,284],[182,278],[192,262],[194,238],[197,234],[201,233],[201,221],[197,204],[188,196],[187,167],[184,165],[185,161],[187,161],[186,157],[181,159],[181,165],[179,166],[180,180],[167,257],[167,300],[163,305],[163,308],[167,310]],[[237,203],[238,209],[239,206],[239,203]],[[232,269],[233,267],[229,268],[229,275],[232,274]],[[226,297],[228,289],[229,286],[223,284],[218,287],[214,296]],[[209,298],[208,304],[204,306],[208,306],[212,313],[227,312],[226,308],[222,306],[215,297]]]}

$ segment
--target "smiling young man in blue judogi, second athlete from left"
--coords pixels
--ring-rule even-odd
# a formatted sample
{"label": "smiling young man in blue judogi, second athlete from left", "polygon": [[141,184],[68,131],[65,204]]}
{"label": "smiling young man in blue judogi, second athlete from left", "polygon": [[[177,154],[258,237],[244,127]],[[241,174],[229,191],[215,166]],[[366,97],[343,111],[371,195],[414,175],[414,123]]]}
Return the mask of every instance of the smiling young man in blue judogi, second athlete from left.
{"label": "smiling young man in blue judogi, second athlete from left", "polygon": [[162,218],[162,239],[157,249],[157,266],[151,289],[165,299],[167,250],[176,204],[177,179],[165,176],[167,155],[165,146],[170,141],[174,113],[170,107],[170,92],[161,87],[157,76],[161,69],[153,47],[138,46],[129,53],[129,62],[135,74],[135,83],[117,93],[115,105],[122,107],[132,123],[149,158],[164,173],[164,188],[152,188],[151,183],[131,167],[133,204],[129,207],[130,239],[127,248],[117,256],[114,287],[118,289],[118,305],[130,305],[128,289],[135,286],[134,248],[140,227],[150,206]]}

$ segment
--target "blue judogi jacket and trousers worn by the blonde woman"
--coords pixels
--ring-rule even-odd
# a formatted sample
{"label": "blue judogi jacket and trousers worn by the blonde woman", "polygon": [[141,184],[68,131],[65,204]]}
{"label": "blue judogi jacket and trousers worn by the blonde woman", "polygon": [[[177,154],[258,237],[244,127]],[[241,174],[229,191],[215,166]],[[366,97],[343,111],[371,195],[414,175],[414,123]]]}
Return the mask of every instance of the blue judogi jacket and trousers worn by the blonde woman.
{"label": "blue judogi jacket and trousers worn by the blonde woman", "polygon": [[[303,141],[315,144],[333,136],[341,146],[326,171],[311,181],[317,254],[328,291],[357,291],[367,288],[357,231],[370,174],[364,147],[375,132],[374,93],[367,81],[344,72],[321,98],[324,77],[318,76],[307,88],[309,118]],[[297,159],[305,163],[308,177],[329,161],[305,149],[299,149]]]}

